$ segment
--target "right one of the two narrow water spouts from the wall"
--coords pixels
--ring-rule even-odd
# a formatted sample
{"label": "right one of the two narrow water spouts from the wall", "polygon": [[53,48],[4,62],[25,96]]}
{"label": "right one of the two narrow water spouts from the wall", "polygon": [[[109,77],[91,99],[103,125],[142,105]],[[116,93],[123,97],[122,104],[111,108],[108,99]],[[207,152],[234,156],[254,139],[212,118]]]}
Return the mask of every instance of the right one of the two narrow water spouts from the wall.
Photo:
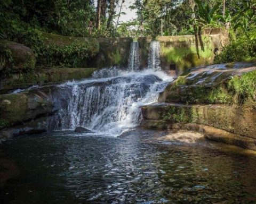
{"label": "right one of the two narrow water spouts from the wall", "polygon": [[148,68],[155,71],[161,70],[160,44],[158,41],[151,41],[148,56]]}

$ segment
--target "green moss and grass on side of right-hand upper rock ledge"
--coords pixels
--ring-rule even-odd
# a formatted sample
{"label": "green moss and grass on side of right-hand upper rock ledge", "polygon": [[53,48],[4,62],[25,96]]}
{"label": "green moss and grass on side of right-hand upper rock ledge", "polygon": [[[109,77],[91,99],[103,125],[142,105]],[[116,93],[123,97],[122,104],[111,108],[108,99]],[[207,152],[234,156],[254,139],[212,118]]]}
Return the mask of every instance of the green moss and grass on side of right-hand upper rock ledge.
{"label": "green moss and grass on side of right-hand upper rock ledge", "polygon": [[[230,80],[220,81],[206,86],[209,83],[194,85],[188,82],[187,76],[180,76],[172,83],[167,96],[168,101],[186,103],[221,103],[238,105],[256,104],[256,71],[232,77]],[[226,76],[227,78],[227,76]],[[191,83],[191,84],[190,84]]]}

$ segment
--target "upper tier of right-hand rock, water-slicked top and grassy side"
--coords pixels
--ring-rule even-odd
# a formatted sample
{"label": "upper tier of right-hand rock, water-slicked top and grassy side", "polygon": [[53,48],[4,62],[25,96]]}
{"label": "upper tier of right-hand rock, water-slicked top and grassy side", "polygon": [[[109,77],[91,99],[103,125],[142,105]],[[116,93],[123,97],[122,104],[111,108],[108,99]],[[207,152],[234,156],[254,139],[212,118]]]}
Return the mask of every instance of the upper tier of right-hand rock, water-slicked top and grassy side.
{"label": "upper tier of right-hand rock, water-slicked top and grassy side", "polygon": [[191,69],[171,82],[161,102],[256,105],[256,67],[251,63]]}

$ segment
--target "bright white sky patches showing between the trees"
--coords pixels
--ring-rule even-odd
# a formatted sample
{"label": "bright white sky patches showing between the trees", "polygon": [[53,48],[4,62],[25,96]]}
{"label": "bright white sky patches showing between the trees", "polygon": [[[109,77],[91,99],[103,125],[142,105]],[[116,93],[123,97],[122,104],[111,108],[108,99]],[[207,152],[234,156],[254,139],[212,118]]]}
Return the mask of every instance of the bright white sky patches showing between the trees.
{"label": "bright white sky patches showing between the trees", "polygon": [[[121,1],[122,0],[118,0],[119,1],[119,6],[121,5]],[[130,21],[132,19],[136,18],[136,10],[131,10],[129,8],[130,5],[132,5],[135,2],[135,0],[125,0],[123,7],[122,7],[122,12],[125,12],[125,15],[121,15],[119,18],[119,22],[126,22],[126,21]],[[97,6],[97,1],[94,0],[94,5]],[[120,7],[116,8],[116,13],[119,13],[120,11]]]}

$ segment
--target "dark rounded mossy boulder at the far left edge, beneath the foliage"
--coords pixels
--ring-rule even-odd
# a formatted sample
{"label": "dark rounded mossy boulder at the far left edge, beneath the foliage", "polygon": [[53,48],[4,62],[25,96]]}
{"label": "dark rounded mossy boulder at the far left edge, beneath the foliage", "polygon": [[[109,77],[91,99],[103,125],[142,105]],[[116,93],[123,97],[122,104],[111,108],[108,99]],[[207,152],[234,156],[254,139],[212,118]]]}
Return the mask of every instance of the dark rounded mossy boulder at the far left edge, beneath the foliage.
{"label": "dark rounded mossy boulder at the far left edge, beneath the foliage", "polygon": [[0,57],[2,61],[4,59],[2,72],[9,74],[34,69],[36,57],[29,47],[8,40],[0,40],[0,50]]}

